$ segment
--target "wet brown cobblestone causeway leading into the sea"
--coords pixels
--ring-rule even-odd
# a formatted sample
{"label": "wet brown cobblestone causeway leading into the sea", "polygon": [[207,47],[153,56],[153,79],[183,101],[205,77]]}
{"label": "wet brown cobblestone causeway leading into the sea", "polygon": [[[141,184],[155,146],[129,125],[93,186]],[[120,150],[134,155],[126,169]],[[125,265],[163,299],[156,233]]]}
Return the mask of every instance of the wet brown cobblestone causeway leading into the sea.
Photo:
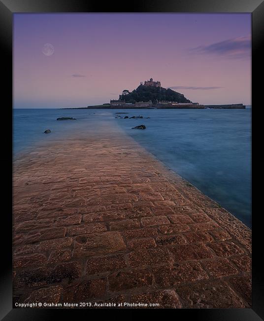
{"label": "wet brown cobblestone causeway leading into the sea", "polygon": [[14,162],[18,303],[251,306],[251,230],[125,135]]}

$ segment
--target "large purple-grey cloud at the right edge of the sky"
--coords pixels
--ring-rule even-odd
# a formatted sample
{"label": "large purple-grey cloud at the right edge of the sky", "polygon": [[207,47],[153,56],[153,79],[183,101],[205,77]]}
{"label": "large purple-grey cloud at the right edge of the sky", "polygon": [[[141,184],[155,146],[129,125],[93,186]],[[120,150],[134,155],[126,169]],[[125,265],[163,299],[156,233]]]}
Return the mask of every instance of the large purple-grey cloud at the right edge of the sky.
{"label": "large purple-grey cloud at the right edge of the sky", "polygon": [[191,53],[215,54],[228,58],[245,58],[250,56],[251,40],[239,37],[191,48]]}

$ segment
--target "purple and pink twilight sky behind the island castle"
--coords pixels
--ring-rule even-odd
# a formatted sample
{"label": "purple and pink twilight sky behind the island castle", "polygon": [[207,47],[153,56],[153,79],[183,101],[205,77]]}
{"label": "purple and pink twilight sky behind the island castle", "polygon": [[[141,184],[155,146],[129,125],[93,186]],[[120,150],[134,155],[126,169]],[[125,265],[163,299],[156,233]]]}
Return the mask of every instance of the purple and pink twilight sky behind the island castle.
{"label": "purple and pink twilight sky behind the island castle", "polygon": [[13,28],[14,108],[109,103],[150,78],[200,104],[251,104],[250,13],[17,13]]}

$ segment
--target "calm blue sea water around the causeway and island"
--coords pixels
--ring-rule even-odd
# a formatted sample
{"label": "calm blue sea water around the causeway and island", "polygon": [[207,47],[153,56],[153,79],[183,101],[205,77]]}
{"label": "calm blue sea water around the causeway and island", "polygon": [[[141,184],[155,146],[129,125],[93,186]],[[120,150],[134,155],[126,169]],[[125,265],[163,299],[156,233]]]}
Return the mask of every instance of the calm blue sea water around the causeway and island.
{"label": "calm blue sea water around the causeway and island", "polygon": [[[246,110],[14,110],[14,157],[42,142],[89,137],[105,123],[121,127],[172,170],[251,226],[251,109]],[[121,116],[125,116],[121,115]],[[77,120],[57,121],[58,117]],[[146,130],[132,130],[145,124]],[[51,133],[43,134],[45,129]]]}

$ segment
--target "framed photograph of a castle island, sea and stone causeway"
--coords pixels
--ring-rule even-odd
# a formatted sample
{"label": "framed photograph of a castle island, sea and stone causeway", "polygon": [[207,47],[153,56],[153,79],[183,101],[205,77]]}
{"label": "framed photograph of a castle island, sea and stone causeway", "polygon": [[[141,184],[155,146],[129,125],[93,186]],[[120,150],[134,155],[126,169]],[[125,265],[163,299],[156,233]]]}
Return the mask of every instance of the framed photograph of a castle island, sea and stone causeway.
{"label": "framed photograph of a castle island, sea and stone causeway", "polygon": [[251,12],[12,28],[13,308],[252,309]]}

